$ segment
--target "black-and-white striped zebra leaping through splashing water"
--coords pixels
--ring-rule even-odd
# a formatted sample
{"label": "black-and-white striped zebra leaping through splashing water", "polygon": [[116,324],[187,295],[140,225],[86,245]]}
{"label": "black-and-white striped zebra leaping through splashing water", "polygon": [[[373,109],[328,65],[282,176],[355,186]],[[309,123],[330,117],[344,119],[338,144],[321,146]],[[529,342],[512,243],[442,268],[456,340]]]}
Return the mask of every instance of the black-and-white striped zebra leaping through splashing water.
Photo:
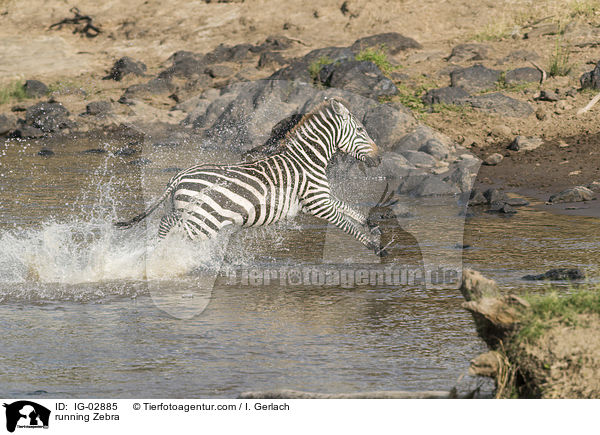
{"label": "black-and-white striped zebra leaping through splashing water", "polygon": [[331,99],[305,115],[287,133],[276,154],[250,163],[185,169],[171,178],[149,209],[115,225],[132,226],[167,198],[172,211],[160,221],[159,238],[180,227],[191,239],[207,239],[228,225],[268,225],[302,210],[384,255],[378,227],[331,192],[326,168],[338,150],[368,166],[380,161],[377,146],[363,125],[341,102]]}

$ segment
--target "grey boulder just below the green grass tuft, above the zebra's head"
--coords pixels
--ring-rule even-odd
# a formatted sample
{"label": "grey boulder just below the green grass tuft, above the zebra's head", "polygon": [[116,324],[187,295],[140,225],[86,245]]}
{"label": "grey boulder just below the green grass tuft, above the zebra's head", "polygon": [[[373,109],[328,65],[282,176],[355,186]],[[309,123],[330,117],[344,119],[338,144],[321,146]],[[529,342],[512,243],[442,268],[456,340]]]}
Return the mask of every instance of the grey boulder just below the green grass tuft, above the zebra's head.
{"label": "grey boulder just below the green grass tuft, above the zebra's head", "polygon": [[331,64],[331,70],[322,83],[344,89],[368,98],[396,95],[396,85],[385,77],[373,62],[347,61]]}

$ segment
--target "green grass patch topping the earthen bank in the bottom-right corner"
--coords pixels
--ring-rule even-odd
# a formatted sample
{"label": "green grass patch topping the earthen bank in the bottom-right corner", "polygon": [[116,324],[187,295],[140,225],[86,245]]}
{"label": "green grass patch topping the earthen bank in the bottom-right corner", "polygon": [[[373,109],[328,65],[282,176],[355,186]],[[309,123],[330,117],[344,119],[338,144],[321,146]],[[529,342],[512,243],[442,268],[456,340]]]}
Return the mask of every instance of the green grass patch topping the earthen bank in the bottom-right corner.
{"label": "green grass patch topping the earthen bank in the bottom-right corner", "polygon": [[600,314],[600,286],[569,294],[551,290],[543,295],[525,295],[524,299],[531,304],[531,310],[517,333],[518,341],[536,341],[557,323],[576,325],[579,314]]}

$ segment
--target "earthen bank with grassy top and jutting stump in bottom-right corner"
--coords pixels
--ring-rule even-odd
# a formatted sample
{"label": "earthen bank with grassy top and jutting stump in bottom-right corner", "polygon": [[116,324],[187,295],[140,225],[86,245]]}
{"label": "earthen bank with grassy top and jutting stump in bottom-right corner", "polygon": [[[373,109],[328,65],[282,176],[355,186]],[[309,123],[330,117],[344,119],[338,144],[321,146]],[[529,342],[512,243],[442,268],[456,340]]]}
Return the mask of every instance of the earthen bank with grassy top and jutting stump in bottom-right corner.
{"label": "earthen bank with grassy top and jutting stump in bottom-right corner", "polygon": [[494,378],[497,398],[600,397],[597,288],[517,296],[465,270],[461,292],[490,348],[469,372]]}

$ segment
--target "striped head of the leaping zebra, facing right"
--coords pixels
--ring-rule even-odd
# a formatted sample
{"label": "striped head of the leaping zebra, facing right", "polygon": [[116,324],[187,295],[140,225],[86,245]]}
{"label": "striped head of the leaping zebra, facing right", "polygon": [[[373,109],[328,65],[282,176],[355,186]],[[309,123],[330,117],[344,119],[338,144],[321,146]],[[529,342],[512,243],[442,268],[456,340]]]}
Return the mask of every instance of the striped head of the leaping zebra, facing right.
{"label": "striped head of the leaping zebra, facing right", "polygon": [[331,100],[331,109],[337,115],[339,123],[338,148],[361,160],[367,166],[377,166],[381,162],[379,149],[369,137],[362,123],[337,100]]}

